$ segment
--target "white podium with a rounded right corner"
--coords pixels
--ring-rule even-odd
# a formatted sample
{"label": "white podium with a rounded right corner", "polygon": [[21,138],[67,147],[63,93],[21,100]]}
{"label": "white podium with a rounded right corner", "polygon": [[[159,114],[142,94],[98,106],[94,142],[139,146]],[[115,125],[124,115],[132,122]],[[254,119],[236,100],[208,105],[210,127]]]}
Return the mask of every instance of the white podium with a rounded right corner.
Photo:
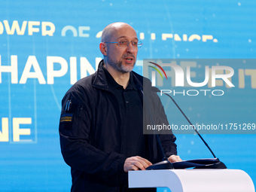
{"label": "white podium with a rounded right corner", "polygon": [[129,187],[169,187],[172,192],[254,192],[250,176],[238,169],[130,171]]}

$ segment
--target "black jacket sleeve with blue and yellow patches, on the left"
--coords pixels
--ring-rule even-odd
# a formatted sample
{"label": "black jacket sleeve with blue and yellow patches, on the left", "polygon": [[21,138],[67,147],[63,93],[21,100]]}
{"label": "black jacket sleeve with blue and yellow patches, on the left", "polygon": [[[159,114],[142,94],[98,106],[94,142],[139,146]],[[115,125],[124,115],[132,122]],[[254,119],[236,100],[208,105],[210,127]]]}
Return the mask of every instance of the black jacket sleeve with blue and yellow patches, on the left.
{"label": "black jacket sleeve with blue and yellow patches, on the left", "polygon": [[90,144],[92,115],[90,100],[84,94],[79,91],[66,93],[59,120],[59,139],[65,162],[89,174],[123,173],[126,157],[116,152],[105,153]]}

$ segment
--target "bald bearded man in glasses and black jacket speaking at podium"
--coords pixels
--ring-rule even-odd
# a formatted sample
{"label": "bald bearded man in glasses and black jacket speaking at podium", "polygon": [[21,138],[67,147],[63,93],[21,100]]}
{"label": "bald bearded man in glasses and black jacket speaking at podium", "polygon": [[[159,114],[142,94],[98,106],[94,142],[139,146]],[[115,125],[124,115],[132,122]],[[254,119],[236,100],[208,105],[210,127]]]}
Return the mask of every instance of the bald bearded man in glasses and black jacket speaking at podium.
{"label": "bald bearded man in glasses and black jacket speaking at podium", "polygon": [[[143,135],[138,87],[142,81],[151,85],[132,72],[141,45],[132,26],[106,26],[98,71],[78,81],[62,99],[59,136],[63,158],[72,169],[72,191],[126,191],[128,171],[145,170],[162,158],[154,136]],[[157,94],[148,95],[157,106],[154,119],[168,123]],[[168,160],[181,160],[175,136],[160,139]]]}

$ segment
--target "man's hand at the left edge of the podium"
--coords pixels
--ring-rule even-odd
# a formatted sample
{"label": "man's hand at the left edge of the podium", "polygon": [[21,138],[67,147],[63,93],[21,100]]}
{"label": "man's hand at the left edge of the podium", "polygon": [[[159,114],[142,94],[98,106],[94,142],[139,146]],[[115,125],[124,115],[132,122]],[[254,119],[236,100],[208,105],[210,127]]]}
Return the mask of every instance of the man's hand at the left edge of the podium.
{"label": "man's hand at the left edge of the podium", "polygon": [[128,172],[131,170],[145,170],[148,166],[151,166],[152,163],[149,162],[148,160],[136,156],[136,157],[129,157],[125,160],[124,164],[123,164],[123,170],[124,172]]}

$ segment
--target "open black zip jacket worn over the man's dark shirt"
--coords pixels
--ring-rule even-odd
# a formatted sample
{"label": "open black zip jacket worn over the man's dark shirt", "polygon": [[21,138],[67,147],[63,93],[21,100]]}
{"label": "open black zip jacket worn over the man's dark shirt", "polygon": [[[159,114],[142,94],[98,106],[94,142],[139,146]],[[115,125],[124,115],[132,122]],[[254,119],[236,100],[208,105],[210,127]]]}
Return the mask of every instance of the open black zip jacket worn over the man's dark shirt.
{"label": "open black zip jacket worn over the man's dark shirt", "polygon": [[[62,156],[72,168],[72,191],[119,191],[120,175],[125,174],[123,164],[126,157],[120,154],[119,105],[109,90],[99,63],[98,71],[78,81],[62,99],[59,136]],[[132,72],[133,81],[140,86],[151,82]],[[166,114],[157,93],[145,93],[155,123],[166,123]],[[148,136],[151,163],[162,159],[154,135]],[[175,136],[160,135],[166,157],[177,154]]]}

